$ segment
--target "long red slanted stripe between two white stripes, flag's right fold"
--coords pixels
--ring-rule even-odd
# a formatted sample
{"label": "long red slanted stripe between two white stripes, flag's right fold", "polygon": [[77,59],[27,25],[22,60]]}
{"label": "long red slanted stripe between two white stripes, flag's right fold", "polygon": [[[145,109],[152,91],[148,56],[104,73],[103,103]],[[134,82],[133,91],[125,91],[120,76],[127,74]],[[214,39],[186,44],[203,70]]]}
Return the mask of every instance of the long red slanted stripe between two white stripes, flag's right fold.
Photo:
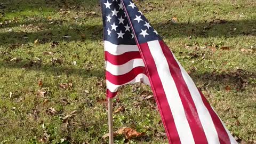
{"label": "long red slanted stripe between two white stripes, flag's right fold", "polygon": [[195,143],[208,143],[203,130],[203,126],[196,110],[195,103],[188,90],[187,84],[183,79],[181,69],[177,61],[174,59],[169,47],[166,46],[163,41],[159,41],[159,44],[161,45],[165,58],[169,63],[169,69],[179,92],[180,99],[182,101],[182,105],[184,107]]}

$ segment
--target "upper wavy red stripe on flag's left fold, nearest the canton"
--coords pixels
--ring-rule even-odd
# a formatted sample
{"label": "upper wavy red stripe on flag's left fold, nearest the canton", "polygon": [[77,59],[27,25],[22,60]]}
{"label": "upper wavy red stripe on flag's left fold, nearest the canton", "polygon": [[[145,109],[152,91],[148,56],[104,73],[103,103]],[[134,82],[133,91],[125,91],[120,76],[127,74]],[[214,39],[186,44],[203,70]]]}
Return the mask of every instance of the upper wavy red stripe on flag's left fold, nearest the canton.
{"label": "upper wavy red stripe on flag's left fold, nearest the canton", "polygon": [[113,55],[105,51],[105,59],[113,65],[123,65],[132,59],[141,59],[140,52],[126,52],[121,55]]}

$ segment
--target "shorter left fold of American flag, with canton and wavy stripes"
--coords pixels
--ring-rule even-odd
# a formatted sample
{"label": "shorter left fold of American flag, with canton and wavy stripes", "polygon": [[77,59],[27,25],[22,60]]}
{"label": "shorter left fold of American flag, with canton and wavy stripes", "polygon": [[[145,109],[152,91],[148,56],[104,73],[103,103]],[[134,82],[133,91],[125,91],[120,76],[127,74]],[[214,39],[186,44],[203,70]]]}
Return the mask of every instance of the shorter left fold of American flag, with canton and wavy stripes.
{"label": "shorter left fold of American flag, with canton and wavy stripes", "polygon": [[150,83],[123,5],[119,0],[101,1],[101,5],[107,97],[113,98],[119,86]]}

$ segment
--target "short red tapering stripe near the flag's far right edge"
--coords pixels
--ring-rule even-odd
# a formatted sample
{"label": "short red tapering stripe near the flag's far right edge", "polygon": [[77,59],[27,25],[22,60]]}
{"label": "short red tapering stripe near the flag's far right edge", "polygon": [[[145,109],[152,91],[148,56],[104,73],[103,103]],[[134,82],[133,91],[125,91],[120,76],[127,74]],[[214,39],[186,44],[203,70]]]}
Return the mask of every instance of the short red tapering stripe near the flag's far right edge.
{"label": "short red tapering stripe near the flag's far right edge", "polygon": [[222,144],[230,144],[230,139],[228,137],[228,133],[225,130],[225,127],[223,126],[223,124],[221,123],[220,118],[218,117],[218,115],[215,113],[215,111],[212,109],[210,103],[207,101],[207,99],[204,97],[203,93],[198,90],[199,93],[201,94],[202,100],[204,102],[205,107],[208,109],[211,117],[212,117],[212,121],[214,123],[215,129],[217,130],[218,133],[218,137],[220,140],[220,143]]}

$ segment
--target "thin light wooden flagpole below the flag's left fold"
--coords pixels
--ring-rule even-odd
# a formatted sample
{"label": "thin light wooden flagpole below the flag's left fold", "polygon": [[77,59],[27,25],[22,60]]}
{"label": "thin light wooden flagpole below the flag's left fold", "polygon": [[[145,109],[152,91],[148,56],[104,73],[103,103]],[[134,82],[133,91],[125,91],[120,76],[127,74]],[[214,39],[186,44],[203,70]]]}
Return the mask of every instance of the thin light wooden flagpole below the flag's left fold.
{"label": "thin light wooden flagpole below the flag's left fold", "polygon": [[108,98],[108,133],[109,144],[114,144],[114,130],[113,130],[113,98]]}

